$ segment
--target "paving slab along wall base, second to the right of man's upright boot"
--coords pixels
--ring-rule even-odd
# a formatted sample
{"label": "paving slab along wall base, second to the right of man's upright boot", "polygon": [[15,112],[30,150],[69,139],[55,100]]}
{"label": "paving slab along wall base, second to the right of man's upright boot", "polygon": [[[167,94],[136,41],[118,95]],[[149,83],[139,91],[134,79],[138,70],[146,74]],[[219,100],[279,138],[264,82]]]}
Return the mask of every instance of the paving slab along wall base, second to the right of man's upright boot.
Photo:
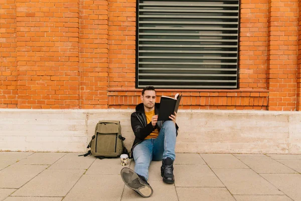
{"label": "paving slab along wall base, second to the right of man's upright boot", "polygon": [[210,168],[249,168],[232,154],[201,154]]}

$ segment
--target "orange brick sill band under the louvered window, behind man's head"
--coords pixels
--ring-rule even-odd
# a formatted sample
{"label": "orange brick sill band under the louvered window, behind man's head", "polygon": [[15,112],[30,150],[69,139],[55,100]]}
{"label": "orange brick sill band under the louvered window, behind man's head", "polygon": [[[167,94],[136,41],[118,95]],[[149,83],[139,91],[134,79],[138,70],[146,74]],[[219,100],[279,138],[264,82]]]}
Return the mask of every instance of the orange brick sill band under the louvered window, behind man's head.
{"label": "orange brick sill band under the louvered window, behind man's head", "polygon": [[[210,110],[266,110],[268,93],[264,90],[167,90],[159,89],[157,96],[174,96],[182,91],[180,109]],[[139,89],[110,89],[109,108],[134,109],[141,103]],[[158,97],[157,102],[160,102]]]}

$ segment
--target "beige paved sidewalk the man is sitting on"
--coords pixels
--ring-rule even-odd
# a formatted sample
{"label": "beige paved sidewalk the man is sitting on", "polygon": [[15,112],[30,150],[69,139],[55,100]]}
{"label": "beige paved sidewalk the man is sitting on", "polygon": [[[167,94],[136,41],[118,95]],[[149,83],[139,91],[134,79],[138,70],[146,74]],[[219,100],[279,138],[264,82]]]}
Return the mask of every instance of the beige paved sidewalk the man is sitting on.
{"label": "beige paved sidewalk the man is sitting on", "polygon": [[301,155],[178,153],[175,184],[162,181],[161,161],[152,162],[154,194],[142,198],[124,185],[119,158],[79,154],[0,152],[0,200],[301,200]]}

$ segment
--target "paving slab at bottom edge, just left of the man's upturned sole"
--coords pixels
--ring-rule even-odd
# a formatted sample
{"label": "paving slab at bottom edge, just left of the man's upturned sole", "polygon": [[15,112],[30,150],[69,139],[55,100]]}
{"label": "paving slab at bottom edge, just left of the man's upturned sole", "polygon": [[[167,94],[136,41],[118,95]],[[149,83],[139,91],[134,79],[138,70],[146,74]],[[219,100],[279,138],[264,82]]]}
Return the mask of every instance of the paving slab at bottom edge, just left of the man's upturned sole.
{"label": "paving slab at bottom edge, just left of the man's upturned sole", "polygon": [[84,174],[64,201],[120,200],[123,187],[120,175]]}

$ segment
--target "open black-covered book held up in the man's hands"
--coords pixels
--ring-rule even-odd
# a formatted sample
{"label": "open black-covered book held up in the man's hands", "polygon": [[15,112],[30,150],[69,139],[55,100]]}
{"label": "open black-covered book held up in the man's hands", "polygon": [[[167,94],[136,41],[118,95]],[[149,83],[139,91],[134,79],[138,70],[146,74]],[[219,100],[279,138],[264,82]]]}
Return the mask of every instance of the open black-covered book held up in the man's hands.
{"label": "open black-covered book held up in the man's hands", "polygon": [[164,95],[161,96],[158,121],[171,120],[169,116],[175,115],[174,112],[178,112],[181,97],[182,95],[180,95],[179,93],[177,93],[175,97],[169,97]]}

